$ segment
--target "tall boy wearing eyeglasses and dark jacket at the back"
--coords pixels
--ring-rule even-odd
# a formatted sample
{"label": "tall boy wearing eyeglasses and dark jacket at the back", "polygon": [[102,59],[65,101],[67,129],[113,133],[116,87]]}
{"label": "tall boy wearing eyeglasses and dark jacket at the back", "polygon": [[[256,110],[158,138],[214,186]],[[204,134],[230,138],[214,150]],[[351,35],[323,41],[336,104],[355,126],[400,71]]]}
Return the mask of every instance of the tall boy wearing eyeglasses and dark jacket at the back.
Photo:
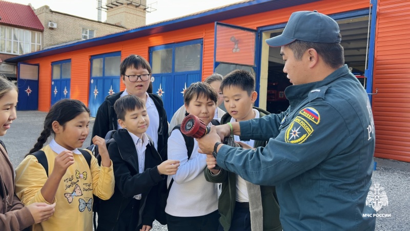
{"label": "tall boy wearing eyeglasses and dark jacket at the back", "polygon": [[107,132],[121,129],[117,121],[117,114],[114,111],[114,103],[120,97],[135,95],[145,102],[150,118],[150,126],[146,133],[152,138],[155,149],[160,153],[168,141],[168,121],[162,99],[157,95],[147,93],[151,80],[151,66],[149,62],[139,55],[131,54],[122,60],[120,74],[126,89],[125,91],[107,96],[98,108],[92,137],[96,135],[105,137]]}

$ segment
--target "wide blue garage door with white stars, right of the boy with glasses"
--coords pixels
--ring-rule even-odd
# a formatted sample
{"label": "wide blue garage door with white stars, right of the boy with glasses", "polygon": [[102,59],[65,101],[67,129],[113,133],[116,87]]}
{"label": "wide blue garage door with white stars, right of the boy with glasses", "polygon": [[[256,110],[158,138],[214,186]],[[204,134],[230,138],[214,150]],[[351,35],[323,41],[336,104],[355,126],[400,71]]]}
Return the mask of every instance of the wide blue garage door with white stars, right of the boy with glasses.
{"label": "wide blue garage door with white stars, right of the boy with glasses", "polygon": [[150,49],[153,93],[162,97],[168,120],[183,104],[183,94],[201,81],[202,39]]}

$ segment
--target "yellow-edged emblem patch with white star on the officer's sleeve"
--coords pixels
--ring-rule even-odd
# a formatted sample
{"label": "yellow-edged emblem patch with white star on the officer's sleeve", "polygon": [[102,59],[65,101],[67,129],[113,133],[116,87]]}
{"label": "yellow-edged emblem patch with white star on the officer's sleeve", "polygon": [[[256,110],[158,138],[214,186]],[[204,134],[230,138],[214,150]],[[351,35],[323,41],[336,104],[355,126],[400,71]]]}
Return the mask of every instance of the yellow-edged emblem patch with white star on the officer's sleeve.
{"label": "yellow-edged emblem patch with white star on the officer's sleeve", "polygon": [[311,124],[302,117],[296,116],[286,130],[285,142],[303,143],[312,133],[313,128]]}

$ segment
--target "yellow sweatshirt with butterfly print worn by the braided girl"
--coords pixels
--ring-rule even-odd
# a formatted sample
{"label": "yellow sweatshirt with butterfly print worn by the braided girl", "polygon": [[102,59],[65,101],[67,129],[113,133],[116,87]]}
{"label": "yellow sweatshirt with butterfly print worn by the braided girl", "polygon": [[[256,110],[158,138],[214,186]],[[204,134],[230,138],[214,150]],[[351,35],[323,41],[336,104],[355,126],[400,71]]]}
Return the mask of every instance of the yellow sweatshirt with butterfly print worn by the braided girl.
{"label": "yellow sweatshirt with butterfly print worn by the braided girl", "polygon": [[[53,171],[57,153],[49,145],[42,149],[47,157],[49,175]],[[91,169],[91,170],[90,170]],[[46,202],[40,190],[47,180],[46,171],[37,158],[27,156],[16,168],[16,194],[25,205]],[[74,154],[74,163],[58,185],[54,201],[55,213],[47,221],[33,225],[34,231],[40,230],[84,230],[92,231],[93,194],[108,200],[114,193],[114,172],[110,167],[100,167],[94,156],[91,167],[83,155]]]}

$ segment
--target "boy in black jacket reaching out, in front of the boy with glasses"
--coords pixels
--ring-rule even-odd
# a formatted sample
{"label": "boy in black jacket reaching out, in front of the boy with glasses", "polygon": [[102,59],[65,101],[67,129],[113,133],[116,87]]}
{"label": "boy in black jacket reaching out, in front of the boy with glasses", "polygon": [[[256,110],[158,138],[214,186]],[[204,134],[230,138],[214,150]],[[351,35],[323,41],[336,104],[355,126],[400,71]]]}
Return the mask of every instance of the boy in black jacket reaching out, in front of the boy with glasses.
{"label": "boy in black jacket reaching out, in front of the boy with glasses", "polygon": [[115,142],[108,146],[115,188],[111,199],[99,204],[97,231],[148,231],[155,219],[158,183],[163,175],[176,173],[179,161],[163,161],[165,156],[155,150],[146,134],[150,119],[144,101],[127,95],[115,102],[114,110],[124,129],[113,134]]}

